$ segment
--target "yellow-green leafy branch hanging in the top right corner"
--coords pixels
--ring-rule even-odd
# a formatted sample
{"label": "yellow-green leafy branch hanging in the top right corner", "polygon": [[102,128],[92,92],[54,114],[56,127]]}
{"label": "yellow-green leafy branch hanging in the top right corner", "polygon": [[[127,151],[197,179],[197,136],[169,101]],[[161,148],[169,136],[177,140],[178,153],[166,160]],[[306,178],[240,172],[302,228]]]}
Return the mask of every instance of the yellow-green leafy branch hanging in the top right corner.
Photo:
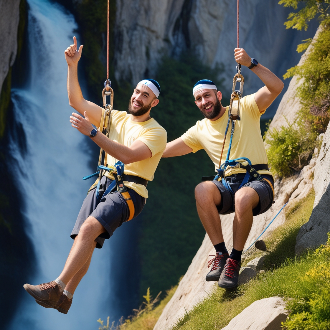
{"label": "yellow-green leafy branch hanging in the top right corner", "polygon": [[280,5],[284,7],[292,7],[294,10],[298,9],[298,5],[302,4],[303,8],[297,13],[290,13],[288,21],[284,23],[287,29],[293,28],[297,30],[308,28],[308,22],[312,20],[317,14],[320,21],[325,19],[329,14],[329,0],[281,0]]}

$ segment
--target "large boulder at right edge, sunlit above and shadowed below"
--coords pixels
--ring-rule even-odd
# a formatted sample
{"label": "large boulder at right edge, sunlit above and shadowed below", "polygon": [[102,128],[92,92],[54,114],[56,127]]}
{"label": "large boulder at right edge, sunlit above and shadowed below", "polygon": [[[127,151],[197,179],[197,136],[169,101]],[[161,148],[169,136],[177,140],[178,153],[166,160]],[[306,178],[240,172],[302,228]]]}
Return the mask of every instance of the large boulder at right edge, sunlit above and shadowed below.
{"label": "large boulder at right edge, sunlit above and shadowed below", "polygon": [[315,200],[309,221],[302,225],[297,235],[295,253],[307,248],[317,248],[327,241],[330,232],[330,124],[323,136],[322,146],[314,171]]}

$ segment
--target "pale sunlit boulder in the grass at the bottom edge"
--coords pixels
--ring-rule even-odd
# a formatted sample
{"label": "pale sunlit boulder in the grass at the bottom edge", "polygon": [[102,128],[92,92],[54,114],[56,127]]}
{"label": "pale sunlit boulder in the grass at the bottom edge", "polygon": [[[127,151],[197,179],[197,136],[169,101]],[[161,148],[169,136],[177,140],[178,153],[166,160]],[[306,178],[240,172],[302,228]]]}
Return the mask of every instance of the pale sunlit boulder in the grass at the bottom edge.
{"label": "pale sunlit boulder in the grass at the bottom edge", "polygon": [[253,302],[222,330],[281,330],[287,315],[281,297],[265,298]]}

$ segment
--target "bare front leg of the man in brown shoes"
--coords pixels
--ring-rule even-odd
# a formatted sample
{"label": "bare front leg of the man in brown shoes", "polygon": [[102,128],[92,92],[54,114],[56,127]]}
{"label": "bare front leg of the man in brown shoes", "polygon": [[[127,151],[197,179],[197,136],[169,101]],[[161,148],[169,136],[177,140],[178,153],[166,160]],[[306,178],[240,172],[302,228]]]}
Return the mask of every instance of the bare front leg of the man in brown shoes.
{"label": "bare front leg of the man in brown shoes", "polygon": [[[64,269],[59,276],[61,281],[68,284],[69,281],[73,279],[91,257],[95,248],[96,237],[105,231],[105,228],[94,217],[89,216],[86,219],[80,228],[79,235],[75,238],[75,242],[66,260]],[[89,266],[89,263],[87,265]],[[85,273],[87,269],[85,270]]]}

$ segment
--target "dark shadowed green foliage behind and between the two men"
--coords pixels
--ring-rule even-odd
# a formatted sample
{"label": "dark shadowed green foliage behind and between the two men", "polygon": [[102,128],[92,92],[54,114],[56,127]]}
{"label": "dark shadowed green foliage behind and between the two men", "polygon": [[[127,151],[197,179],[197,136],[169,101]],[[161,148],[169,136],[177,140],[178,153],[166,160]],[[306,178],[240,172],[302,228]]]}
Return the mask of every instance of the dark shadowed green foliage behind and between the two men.
{"label": "dark shadowed green foliage behind and between the two men", "polygon": [[[181,60],[164,58],[156,76],[161,86],[159,104],[151,116],[166,129],[168,141],[203,118],[194,103],[192,87],[200,79],[211,79],[221,89],[219,73],[220,69],[206,67],[189,55]],[[149,198],[142,214],[141,296],[148,287],[152,292],[169,289],[186,272],[205,235],[194,188],[202,176],[213,173],[214,164],[204,150],[160,160],[154,180],[148,183]]]}

